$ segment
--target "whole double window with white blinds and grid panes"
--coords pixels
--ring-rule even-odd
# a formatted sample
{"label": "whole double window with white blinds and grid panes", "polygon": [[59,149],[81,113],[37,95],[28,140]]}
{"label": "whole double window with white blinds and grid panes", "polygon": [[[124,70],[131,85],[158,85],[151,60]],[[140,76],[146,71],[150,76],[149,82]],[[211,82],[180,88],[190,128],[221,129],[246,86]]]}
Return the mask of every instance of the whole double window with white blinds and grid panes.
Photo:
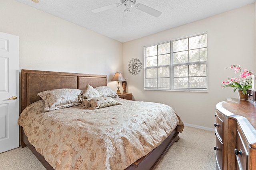
{"label": "whole double window with white blinds and grid panes", "polygon": [[207,91],[207,33],[144,47],[146,90]]}

